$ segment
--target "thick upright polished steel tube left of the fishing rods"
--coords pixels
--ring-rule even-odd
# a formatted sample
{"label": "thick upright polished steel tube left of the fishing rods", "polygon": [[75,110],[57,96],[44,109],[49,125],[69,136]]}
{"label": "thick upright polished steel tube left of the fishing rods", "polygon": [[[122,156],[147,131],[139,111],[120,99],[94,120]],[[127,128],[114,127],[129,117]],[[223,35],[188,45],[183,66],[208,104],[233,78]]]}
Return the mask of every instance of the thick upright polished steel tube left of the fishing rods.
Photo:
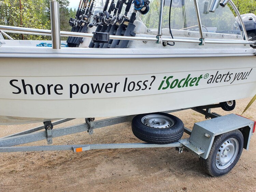
{"label": "thick upright polished steel tube left of the fishing rods", "polygon": [[51,29],[52,29],[52,46],[53,49],[61,49],[60,46],[60,16],[59,2],[50,1]]}

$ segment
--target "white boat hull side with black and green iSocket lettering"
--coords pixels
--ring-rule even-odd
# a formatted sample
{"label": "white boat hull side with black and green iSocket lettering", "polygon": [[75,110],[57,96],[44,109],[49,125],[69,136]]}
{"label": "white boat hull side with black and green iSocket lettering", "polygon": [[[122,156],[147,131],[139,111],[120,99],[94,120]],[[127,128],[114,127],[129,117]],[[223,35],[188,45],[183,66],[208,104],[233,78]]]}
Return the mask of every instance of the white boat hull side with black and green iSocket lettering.
{"label": "white boat hull side with black and green iSocket lettering", "polygon": [[[0,125],[142,114],[252,97],[256,92],[254,53],[1,58]],[[95,89],[97,84],[100,89]]]}

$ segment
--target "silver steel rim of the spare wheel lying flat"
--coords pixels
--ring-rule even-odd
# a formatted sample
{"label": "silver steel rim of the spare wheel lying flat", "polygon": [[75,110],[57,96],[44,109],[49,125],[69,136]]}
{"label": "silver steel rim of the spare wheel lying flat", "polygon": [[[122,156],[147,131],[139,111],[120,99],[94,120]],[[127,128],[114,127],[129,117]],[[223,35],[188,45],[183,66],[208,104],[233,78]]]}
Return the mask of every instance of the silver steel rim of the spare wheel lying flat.
{"label": "silver steel rim of the spare wheel lying flat", "polygon": [[141,122],[147,127],[156,129],[165,129],[174,125],[174,121],[170,117],[154,114],[142,117]]}

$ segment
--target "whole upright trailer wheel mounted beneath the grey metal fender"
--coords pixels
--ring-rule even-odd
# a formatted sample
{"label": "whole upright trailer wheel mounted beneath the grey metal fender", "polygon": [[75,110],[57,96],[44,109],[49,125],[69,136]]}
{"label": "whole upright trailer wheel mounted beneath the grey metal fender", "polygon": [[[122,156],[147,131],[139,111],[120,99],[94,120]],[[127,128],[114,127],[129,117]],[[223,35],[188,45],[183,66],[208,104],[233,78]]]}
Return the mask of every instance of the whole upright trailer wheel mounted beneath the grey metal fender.
{"label": "whole upright trailer wheel mounted beneath the grey metal fender", "polygon": [[200,157],[200,164],[209,175],[225,175],[237,164],[243,150],[244,138],[239,130],[215,137],[209,157]]}

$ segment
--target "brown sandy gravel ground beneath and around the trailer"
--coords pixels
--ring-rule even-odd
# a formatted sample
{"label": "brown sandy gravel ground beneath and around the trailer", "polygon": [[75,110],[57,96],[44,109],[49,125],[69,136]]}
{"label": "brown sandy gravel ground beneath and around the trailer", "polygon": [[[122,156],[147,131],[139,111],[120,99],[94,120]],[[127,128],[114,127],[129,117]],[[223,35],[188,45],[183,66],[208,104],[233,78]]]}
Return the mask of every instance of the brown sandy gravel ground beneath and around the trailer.
{"label": "brown sandy gravel ground beneath and around the trailer", "polygon": [[[250,99],[237,100],[232,113],[241,114]],[[212,112],[228,114],[222,109]],[[204,116],[193,110],[173,113],[187,128]],[[256,120],[256,103],[244,116]],[[75,119],[56,127],[83,123]],[[40,124],[0,126],[0,137]],[[184,134],[183,137],[188,137]],[[131,123],[53,139],[55,145],[139,143]],[[35,143],[46,145],[46,141]],[[203,172],[198,158],[174,148],[16,152],[0,154],[0,191],[256,191],[256,136],[250,150],[222,177]]]}

